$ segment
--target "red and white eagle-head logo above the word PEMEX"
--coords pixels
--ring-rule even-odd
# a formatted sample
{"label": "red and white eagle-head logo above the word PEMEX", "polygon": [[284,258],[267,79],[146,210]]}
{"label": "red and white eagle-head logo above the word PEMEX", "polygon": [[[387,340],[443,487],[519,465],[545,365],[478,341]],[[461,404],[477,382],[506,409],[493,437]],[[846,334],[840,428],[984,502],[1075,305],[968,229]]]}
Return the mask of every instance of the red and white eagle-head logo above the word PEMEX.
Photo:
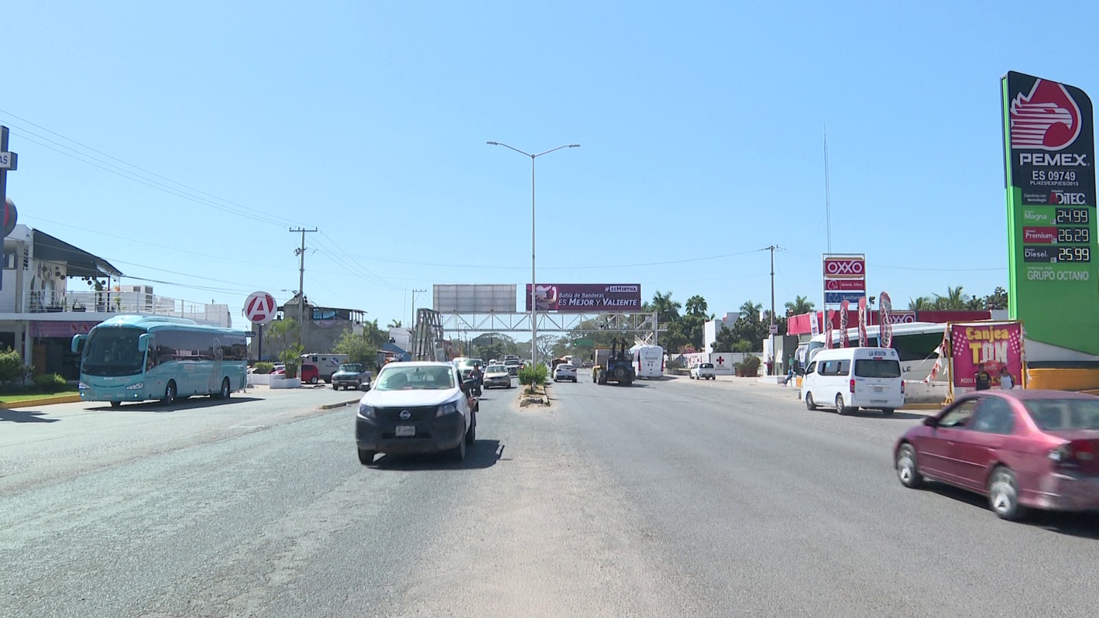
{"label": "red and white eagle-head logo above the word PEMEX", "polygon": [[1037,79],[1011,101],[1011,147],[1059,151],[1080,134],[1080,108],[1056,81]]}

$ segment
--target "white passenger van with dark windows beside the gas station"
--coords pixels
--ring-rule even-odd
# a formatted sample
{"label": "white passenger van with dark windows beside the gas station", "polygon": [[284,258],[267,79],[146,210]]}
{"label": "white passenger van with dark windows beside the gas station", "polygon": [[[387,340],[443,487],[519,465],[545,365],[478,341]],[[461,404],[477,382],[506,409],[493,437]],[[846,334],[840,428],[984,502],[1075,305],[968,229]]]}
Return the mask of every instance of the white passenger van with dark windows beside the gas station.
{"label": "white passenger van with dark windows beside the gas station", "polygon": [[801,380],[806,407],[834,407],[841,415],[859,408],[891,415],[904,407],[900,356],[892,347],[821,350]]}

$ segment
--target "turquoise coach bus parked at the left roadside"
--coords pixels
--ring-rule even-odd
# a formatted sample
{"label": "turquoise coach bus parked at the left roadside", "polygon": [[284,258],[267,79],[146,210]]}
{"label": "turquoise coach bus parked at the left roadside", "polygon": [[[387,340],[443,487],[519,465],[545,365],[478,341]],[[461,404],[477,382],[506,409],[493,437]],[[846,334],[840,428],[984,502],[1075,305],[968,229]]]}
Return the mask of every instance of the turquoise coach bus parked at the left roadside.
{"label": "turquoise coach bus parked at the left roadside", "polygon": [[245,333],[185,318],[115,316],[73,338],[80,353],[80,399],[123,401],[210,395],[227,399],[245,387]]}

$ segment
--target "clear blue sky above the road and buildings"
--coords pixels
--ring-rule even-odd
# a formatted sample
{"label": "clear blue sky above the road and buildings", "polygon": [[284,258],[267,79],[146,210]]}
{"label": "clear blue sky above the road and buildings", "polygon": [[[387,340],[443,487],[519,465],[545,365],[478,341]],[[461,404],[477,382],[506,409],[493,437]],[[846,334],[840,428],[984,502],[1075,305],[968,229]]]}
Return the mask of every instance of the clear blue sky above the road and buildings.
{"label": "clear blue sky above the road and buildings", "polygon": [[1096,18],[1086,2],[14,3],[8,194],[20,222],[124,285],[237,316],[252,291],[290,297],[287,230],[315,227],[306,295],[385,324],[408,321],[413,288],[529,282],[530,161],[486,141],[579,143],[537,163],[537,279],[699,294],[722,314],[769,305],[770,244],[777,305],[820,304],[826,126],[832,249],[866,254],[870,293],[984,296],[1008,284],[999,78],[1095,97]]}

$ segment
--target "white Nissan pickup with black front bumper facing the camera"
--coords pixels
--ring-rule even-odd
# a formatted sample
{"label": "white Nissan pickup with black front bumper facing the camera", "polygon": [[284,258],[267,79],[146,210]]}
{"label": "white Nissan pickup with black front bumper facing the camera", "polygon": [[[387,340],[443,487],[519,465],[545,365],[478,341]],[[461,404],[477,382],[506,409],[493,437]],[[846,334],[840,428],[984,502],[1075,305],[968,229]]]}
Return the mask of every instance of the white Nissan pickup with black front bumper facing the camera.
{"label": "white Nissan pickup with black front bumper facing the camera", "polygon": [[477,398],[453,363],[390,363],[358,401],[358,461],[377,453],[449,452],[466,459],[477,435]]}

